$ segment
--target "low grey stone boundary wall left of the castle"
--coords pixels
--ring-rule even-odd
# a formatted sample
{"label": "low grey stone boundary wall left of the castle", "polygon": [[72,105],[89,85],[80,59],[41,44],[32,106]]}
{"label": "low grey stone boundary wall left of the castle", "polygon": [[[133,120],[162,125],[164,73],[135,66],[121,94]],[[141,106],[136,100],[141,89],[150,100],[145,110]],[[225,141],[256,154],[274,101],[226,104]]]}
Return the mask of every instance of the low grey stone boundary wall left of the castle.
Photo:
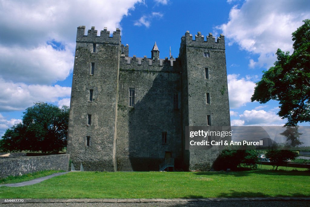
{"label": "low grey stone boundary wall left of the castle", "polygon": [[42,170],[64,170],[69,168],[69,154],[36,157],[18,157],[0,160],[0,178],[20,176]]}

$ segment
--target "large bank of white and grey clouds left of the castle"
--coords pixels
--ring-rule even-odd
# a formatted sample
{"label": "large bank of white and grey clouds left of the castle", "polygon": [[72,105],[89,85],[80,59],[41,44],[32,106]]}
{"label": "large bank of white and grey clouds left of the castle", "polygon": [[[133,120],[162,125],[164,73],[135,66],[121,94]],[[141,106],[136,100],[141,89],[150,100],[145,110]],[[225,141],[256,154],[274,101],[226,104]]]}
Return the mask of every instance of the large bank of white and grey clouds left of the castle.
{"label": "large bank of white and grey clouds left of the castle", "polygon": [[37,101],[67,105],[71,89],[52,84],[72,72],[76,28],[115,31],[137,2],[143,3],[1,1],[0,111],[24,110]]}

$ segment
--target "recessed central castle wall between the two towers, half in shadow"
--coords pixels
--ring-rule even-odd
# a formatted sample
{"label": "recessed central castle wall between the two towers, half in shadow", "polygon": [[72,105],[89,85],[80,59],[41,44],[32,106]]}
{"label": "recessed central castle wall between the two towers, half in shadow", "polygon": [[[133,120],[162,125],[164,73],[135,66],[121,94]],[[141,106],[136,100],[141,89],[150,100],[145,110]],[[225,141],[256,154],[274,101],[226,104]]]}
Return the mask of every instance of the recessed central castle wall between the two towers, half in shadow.
{"label": "recessed central castle wall between the two towers, half in shadow", "polygon": [[[175,168],[182,169],[178,61],[141,59],[121,57],[120,60],[117,169],[158,170],[169,152],[175,158]],[[129,88],[135,88],[134,107],[128,104]],[[174,93],[178,94],[177,108]],[[166,143],[162,140],[165,132]]]}

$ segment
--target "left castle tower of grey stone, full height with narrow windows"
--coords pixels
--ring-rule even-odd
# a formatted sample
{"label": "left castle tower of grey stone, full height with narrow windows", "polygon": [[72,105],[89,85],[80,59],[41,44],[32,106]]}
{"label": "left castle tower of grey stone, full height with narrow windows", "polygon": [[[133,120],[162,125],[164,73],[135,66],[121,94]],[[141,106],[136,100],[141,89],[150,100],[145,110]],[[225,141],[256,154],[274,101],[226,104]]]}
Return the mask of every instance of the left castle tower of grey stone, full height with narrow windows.
{"label": "left castle tower of grey stone, full height with narrow windows", "polygon": [[82,163],[85,170],[115,171],[120,31],[84,31],[77,32],[67,151],[77,170]]}

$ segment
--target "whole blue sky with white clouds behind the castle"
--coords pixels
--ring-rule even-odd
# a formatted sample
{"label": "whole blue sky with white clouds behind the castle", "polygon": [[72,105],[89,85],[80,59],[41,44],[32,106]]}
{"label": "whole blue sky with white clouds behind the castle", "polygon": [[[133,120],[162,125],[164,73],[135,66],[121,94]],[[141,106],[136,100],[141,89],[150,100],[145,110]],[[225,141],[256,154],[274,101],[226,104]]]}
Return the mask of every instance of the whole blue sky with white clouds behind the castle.
{"label": "whole blue sky with white clouds behind the castle", "polygon": [[[0,136],[34,102],[70,104],[77,27],[121,29],[129,56],[179,55],[186,31],[223,34],[232,126],[282,126],[277,101],[251,102],[255,83],[293,52],[291,34],[310,18],[308,0],[0,0]],[[309,126],[308,123],[301,124]]]}

